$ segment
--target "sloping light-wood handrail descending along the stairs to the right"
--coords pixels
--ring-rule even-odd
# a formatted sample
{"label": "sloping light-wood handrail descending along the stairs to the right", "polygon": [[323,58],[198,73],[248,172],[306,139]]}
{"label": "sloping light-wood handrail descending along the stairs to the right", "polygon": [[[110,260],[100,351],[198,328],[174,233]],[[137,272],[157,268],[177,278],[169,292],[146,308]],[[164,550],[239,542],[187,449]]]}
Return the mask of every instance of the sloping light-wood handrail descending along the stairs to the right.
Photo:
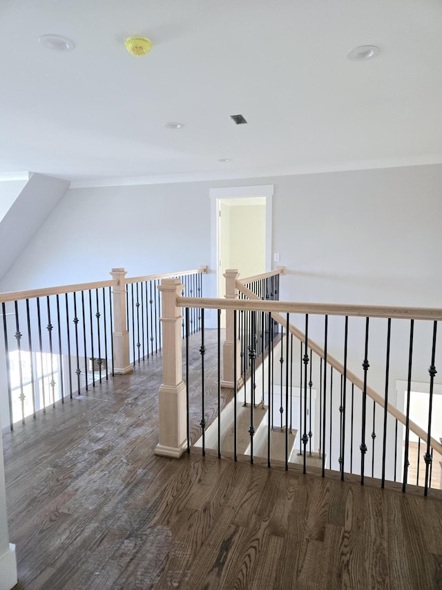
{"label": "sloping light-wood handrail descending along the stairs to the right", "polygon": [[[253,293],[253,291],[250,291],[250,289],[248,289],[247,287],[238,286],[238,288],[240,288],[240,291],[243,293],[243,295],[246,295],[250,299],[255,299],[257,297],[257,295],[255,295],[255,293]],[[349,315],[349,314],[345,314],[345,315]],[[285,318],[282,317],[282,315],[280,315],[280,313],[273,313],[272,312],[271,317],[273,317],[273,320],[276,320],[276,322],[278,322],[278,324],[281,324],[284,327],[287,326],[287,322],[286,322]],[[390,316],[388,316],[388,317],[390,317]],[[295,336],[295,338],[298,338],[298,340],[300,340],[300,342],[305,342],[305,334],[302,331],[300,331],[298,328],[296,328],[296,326],[289,323],[289,330],[290,330],[290,333]],[[311,340],[311,338],[307,339],[307,347],[311,351],[314,351],[314,353],[316,353],[320,358],[325,359],[324,349],[322,347],[320,347],[320,345],[317,344],[314,340]],[[344,366],[338,360],[336,360],[336,358],[334,358],[334,356],[332,356],[329,353],[327,353],[327,364],[330,365],[331,367],[333,367],[334,369],[336,369],[336,371],[338,371],[339,374],[344,375]],[[351,383],[356,385],[356,387],[358,389],[361,389],[361,391],[364,390],[363,380],[358,378],[358,376],[356,376],[352,371],[349,371],[349,369],[347,369],[346,376],[347,376],[347,379]],[[376,403],[378,403],[381,407],[385,407],[385,399],[383,398],[383,396],[378,394],[377,391],[375,391],[372,387],[369,387],[369,386],[367,386],[366,391],[367,391],[367,396],[369,396],[369,398],[372,398],[372,400],[374,400]],[[407,424],[407,417],[405,416],[405,414],[400,412],[391,403],[387,404],[387,412],[392,414],[392,416],[394,418],[396,418],[399,422],[401,422],[401,424],[403,424],[404,426]],[[414,434],[419,436],[420,439],[422,439],[423,441],[427,441],[428,434],[427,434],[427,432],[425,432],[425,430],[423,430],[423,428],[421,428],[419,425],[414,423],[412,420],[408,421],[408,426],[409,426],[410,430],[412,432],[414,432]],[[442,444],[439,443],[438,441],[436,441],[436,439],[433,439],[432,436],[430,436],[430,444],[436,452],[438,452],[439,454],[442,453]]]}

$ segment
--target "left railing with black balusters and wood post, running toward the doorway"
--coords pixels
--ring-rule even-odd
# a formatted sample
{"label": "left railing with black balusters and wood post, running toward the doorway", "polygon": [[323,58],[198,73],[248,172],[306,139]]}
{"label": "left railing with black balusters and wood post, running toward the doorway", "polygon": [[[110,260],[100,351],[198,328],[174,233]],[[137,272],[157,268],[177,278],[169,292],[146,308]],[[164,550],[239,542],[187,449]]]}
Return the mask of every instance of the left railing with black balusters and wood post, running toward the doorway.
{"label": "left railing with black balusters and wood post, running toward the doorway", "polygon": [[[202,295],[207,267],[162,275],[126,278],[113,268],[112,279],[0,294],[2,413],[10,428],[37,416],[57,401],[80,395],[162,345],[157,285],[180,277],[182,294]],[[198,331],[195,317],[193,331]]]}

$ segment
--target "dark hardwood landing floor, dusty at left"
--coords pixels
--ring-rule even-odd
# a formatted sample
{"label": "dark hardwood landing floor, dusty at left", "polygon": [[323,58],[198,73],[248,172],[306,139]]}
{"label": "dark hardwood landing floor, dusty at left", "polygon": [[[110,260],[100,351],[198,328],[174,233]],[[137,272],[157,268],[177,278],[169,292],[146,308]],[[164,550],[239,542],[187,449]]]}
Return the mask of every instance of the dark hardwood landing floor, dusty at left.
{"label": "dark hardwood landing floor, dusty at left", "polygon": [[155,457],[160,361],[3,433],[17,590],[442,589],[437,497]]}

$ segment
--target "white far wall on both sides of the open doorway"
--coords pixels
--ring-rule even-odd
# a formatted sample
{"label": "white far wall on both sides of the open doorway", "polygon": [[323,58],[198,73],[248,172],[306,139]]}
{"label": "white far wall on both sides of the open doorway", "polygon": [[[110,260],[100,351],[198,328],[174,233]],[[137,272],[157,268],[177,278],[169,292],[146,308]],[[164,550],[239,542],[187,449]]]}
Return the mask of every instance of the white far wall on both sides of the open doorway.
{"label": "white far wall on both sides of the open doorway", "polygon": [[[266,178],[281,297],[437,306],[442,165]],[[209,189],[262,178],[70,189],[0,284],[2,291],[205,264]],[[3,244],[0,246],[4,247]],[[214,282],[213,282],[214,286]]]}

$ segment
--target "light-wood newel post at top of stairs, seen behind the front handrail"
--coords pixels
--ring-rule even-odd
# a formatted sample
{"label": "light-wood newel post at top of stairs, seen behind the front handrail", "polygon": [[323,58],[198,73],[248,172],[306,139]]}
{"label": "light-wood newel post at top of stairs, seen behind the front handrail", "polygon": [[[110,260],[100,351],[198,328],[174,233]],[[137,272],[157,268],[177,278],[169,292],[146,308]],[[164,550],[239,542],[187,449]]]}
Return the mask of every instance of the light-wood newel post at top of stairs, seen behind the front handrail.
{"label": "light-wood newel post at top of stairs, seen behind the front handrail", "polygon": [[[226,279],[226,299],[238,299],[238,289],[236,288],[236,280],[240,274],[236,268],[226,270],[224,277]],[[237,387],[242,387],[241,377],[241,347],[238,339],[238,319],[237,312],[237,331],[236,331],[236,383]],[[226,310],[226,340],[222,347],[222,387],[235,387],[235,379],[233,376],[233,358],[234,358],[234,325],[233,325],[233,309]]]}

